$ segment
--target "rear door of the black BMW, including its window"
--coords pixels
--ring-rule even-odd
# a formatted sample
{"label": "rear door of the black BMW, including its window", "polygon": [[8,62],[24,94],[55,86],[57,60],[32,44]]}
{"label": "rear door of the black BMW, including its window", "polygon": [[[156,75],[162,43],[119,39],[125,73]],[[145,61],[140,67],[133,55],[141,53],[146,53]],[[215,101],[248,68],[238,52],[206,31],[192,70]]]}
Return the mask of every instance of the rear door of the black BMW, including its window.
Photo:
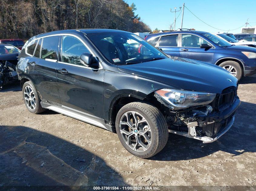
{"label": "rear door of the black BMW, including its window", "polygon": [[55,70],[57,66],[56,59],[58,59],[58,43],[59,36],[43,38],[39,41],[35,50],[35,56],[39,58],[33,57],[33,60],[30,60],[30,62],[34,62],[34,70],[31,76],[40,98],[56,103],[60,103]]}

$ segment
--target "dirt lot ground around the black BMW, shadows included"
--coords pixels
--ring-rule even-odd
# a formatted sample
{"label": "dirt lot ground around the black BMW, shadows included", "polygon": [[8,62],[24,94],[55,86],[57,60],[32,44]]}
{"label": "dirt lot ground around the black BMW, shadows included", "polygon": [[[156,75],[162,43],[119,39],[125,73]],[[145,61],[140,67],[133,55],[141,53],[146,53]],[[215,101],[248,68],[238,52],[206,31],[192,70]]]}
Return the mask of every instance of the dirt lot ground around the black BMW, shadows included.
{"label": "dirt lot ground around the black BMW, shadows included", "polygon": [[241,80],[232,128],[218,141],[169,134],[150,159],[115,133],[62,114],[29,113],[19,83],[0,91],[0,186],[256,185],[256,75]]}

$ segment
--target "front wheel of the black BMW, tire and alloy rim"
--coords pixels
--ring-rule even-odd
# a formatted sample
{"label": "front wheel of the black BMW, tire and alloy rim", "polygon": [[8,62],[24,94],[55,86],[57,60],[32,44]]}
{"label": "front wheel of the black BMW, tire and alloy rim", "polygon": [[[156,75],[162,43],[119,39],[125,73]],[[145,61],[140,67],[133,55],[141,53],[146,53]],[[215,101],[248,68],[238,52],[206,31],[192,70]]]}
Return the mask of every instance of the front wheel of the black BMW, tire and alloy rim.
{"label": "front wheel of the black BMW, tire and alloy rim", "polygon": [[115,126],[121,144],[140,158],[154,156],[168,140],[165,117],[148,103],[132,102],[123,106],[116,116]]}

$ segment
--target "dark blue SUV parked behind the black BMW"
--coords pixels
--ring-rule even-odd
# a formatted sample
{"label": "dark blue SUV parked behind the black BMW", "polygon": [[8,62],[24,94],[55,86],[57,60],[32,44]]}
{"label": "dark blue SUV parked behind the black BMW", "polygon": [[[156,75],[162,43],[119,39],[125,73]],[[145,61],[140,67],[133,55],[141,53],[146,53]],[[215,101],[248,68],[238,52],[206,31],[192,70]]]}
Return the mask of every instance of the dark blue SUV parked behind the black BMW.
{"label": "dark blue SUV parked behind the black BMW", "polygon": [[232,45],[211,33],[180,30],[149,34],[146,40],[170,56],[218,65],[238,79],[256,73],[256,48]]}

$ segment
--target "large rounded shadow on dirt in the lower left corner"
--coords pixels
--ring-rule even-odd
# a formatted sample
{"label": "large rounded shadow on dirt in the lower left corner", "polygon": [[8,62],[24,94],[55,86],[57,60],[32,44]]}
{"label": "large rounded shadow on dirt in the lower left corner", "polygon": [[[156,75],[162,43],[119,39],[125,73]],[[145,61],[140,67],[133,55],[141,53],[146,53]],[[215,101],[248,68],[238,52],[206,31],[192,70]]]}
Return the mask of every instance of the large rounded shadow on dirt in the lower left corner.
{"label": "large rounded shadow on dirt in the lower left corner", "polygon": [[126,185],[97,155],[25,126],[0,126],[1,186]]}

